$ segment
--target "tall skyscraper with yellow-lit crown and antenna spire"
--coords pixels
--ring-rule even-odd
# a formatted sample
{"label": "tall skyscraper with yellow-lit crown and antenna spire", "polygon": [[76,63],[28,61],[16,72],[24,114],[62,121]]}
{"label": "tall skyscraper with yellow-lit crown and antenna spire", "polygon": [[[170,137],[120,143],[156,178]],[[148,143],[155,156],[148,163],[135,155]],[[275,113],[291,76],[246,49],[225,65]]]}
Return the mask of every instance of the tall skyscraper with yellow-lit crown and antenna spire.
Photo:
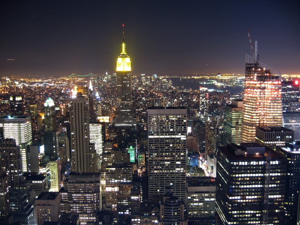
{"label": "tall skyscraper with yellow-lit crown and antenna spire", "polygon": [[117,61],[117,107],[116,126],[132,126],[133,115],[131,112],[131,61],[125,51],[124,25],[122,50]]}

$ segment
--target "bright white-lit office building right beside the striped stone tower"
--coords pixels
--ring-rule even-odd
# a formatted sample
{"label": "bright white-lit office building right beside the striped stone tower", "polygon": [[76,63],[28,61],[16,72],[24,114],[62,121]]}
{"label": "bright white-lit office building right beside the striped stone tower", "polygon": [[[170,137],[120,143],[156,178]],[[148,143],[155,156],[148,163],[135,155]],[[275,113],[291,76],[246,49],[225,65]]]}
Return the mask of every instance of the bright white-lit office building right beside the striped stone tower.
{"label": "bright white-lit office building right beside the striped stone tower", "polygon": [[100,170],[102,162],[102,154],[104,148],[104,129],[105,127],[101,122],[90,123],[90,142],[95,144],[98,170]]}

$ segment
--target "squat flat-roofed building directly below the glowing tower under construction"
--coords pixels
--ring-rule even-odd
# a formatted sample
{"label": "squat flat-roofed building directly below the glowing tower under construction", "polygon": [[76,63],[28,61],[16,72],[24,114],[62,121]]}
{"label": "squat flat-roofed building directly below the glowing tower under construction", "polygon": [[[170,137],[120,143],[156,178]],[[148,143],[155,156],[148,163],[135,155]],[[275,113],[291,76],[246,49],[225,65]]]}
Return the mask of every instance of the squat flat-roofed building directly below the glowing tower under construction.
{"label": "squat flat-roofed building directly below the glowing tower under construction", "polygon": [[285,146],[294,140],[294,131],[284,127],[257,127],[255,142],[275,150],[276,146]]}

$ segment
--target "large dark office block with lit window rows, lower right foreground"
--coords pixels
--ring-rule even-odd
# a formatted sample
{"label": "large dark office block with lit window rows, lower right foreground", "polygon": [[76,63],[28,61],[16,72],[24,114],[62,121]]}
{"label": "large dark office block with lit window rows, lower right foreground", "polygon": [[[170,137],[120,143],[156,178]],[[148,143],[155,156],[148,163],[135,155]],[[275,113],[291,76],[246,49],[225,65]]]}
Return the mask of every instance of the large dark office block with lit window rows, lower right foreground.
{"label": "large dark office block with lit window rows, lower right foreground", "polygon": [[258,144],[217,148],[216,224],[282,224],[286,159]]}

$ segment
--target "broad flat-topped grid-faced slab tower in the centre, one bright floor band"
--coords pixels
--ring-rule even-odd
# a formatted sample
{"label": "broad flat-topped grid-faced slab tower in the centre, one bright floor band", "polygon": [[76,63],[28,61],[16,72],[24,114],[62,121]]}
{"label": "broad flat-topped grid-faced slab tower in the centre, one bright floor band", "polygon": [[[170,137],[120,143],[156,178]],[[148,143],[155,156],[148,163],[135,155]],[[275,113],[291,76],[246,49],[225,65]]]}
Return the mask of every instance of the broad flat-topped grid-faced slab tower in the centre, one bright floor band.
{"label": "broad flat-topped grid-faced slab tower in the centre, one bright floor band", "polygon": [[166,185],[185,198],[187,110],[184,107],[148,108],[149,200]]}

